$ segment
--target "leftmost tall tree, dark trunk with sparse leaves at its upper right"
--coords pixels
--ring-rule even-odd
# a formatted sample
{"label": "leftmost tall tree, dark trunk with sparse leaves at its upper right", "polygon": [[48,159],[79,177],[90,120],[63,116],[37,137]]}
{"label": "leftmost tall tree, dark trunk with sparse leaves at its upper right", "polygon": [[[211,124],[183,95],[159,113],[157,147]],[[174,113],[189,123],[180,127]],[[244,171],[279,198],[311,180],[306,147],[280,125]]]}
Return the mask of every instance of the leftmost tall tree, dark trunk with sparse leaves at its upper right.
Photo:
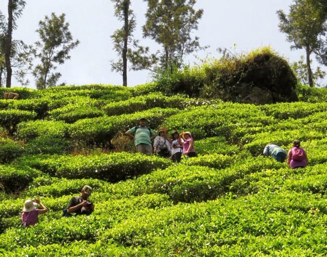
{"label": "leftmost tall tree, dark trunk with sparse leaves at its upper right", "polygon": [[25,7],[26,2],[24,0],[8,0],[8,25],[7,25],[7,34],[5,40],[5,53],[4,60],[6,66],[6,87],[11,87],[11,50],[12,50],[12,30],[15,29],[16,19],[19,18],[22,14],[22,11]]}

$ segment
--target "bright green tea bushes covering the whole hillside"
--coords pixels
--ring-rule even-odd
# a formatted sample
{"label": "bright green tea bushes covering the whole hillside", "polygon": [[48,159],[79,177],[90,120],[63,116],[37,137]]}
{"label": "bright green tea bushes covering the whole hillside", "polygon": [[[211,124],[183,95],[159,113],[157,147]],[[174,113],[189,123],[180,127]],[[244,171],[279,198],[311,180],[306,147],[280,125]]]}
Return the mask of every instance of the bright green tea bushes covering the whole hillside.
{"label": "bright green tea bushes covering the whole hillside", "polygon": [[[19,100],[0,100],[0,256],[325,256],[326,89],[298,85],[300,102],[270,105],[158,92],[169,95],[169,81],[197,82],[184,90],[196,92],[198,71],[133,88],[16,88]],[[124,132],[140,118],[169,136],[191,131],[198,156],[135,153]],[[106,148],[112,139],[130,152]],[[263,156],[294,139],[307,167]],[[84,185],[95,211],[62,217]],[[23,229],[29,198],[49,211]]]}

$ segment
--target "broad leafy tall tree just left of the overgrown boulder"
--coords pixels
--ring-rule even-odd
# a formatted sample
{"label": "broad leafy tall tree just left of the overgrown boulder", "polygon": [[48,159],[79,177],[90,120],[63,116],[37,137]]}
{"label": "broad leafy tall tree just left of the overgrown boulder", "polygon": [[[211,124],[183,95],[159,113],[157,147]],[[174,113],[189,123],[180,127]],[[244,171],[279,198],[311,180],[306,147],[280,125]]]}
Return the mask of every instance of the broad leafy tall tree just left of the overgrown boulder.
{"label": "broad leafy tall tree just left of the overgrown boulder", "polygon": [[148,3],[143,37],[162,46],[160,68],[172,72],[179,68],[185,55],[204,49],[198,37],[191,33],[198,29],[203,9],[195,10],[196,0],[144,0]]}

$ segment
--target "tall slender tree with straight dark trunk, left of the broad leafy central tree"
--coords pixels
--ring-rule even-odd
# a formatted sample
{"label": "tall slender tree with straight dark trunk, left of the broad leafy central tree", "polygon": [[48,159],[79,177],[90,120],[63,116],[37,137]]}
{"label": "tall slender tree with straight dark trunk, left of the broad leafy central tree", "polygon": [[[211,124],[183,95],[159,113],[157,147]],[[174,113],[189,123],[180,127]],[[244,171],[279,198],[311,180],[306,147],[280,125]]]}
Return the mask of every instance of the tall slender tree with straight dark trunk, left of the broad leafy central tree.
{"label": "tall slender tree with straight dark trunk, left of the broad leafy central tree", "polygon": [[121,29],[114,31],[111,35],[113,41],[113,49],[121,59],[117,62],[111,61],[111,70],[122,73],[123,86],[127,86],[127,52],[128,43],[132,42],[132,32],[135,29],[136,21],[133,11],[130,9],[130,0],[111,0],[114,3],[114,15],[118,20],[123,21],[124,25]]}

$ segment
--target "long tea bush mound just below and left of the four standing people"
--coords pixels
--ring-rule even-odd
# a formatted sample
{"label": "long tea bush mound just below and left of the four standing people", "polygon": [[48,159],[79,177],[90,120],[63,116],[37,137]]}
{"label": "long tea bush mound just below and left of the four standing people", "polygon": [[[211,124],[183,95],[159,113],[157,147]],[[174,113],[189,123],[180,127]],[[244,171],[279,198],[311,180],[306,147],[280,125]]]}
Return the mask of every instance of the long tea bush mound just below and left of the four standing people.
{"label": "long tea bush mound just below and left of the four standing people", "polygon": [[163,158],[129,153],[83,155],[34,155],[17,161],[51,176],[68,179],[94,178],[117,182],[168,167]]}

